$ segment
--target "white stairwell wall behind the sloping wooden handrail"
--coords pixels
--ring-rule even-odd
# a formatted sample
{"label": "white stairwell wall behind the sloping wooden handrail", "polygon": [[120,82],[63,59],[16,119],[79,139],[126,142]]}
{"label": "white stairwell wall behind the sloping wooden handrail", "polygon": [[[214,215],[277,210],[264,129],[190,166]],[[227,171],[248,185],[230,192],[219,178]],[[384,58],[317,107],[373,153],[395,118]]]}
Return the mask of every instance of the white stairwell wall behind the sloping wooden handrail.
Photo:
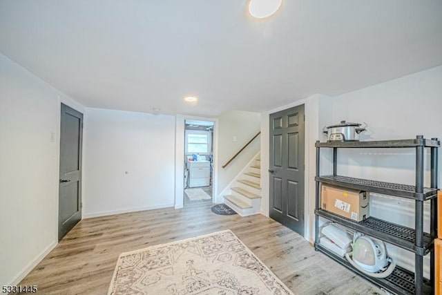
{"label": "white stairwell wall behind the sloping wooden handrail", "polygon": [[226,168],[226,164],[244,144],[260,131],[260,113],[245,111],[228,111],[218,117],[218,202],[222,202],[220,193],[227,187],[233,178],[240,173],[244,166],[260,151],[258,136],[244,151]]}

